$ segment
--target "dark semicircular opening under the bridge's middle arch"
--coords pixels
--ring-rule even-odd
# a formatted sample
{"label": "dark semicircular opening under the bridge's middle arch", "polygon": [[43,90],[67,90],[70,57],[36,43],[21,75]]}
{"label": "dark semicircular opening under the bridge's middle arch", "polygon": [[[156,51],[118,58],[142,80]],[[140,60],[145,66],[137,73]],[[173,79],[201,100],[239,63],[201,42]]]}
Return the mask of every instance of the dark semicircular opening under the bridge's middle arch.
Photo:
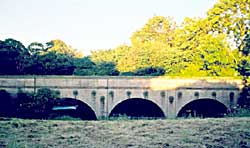
{"label": "dark semicircular opening under the bridge's middle arch", "polygon": [[117,117],[119,115],[126,115],[128,117],[152,117],[152,118],[164,118],[165,115],[161,108],[154,102],[141,99],[132,98],[127,99],[116,105],[109,117]]}

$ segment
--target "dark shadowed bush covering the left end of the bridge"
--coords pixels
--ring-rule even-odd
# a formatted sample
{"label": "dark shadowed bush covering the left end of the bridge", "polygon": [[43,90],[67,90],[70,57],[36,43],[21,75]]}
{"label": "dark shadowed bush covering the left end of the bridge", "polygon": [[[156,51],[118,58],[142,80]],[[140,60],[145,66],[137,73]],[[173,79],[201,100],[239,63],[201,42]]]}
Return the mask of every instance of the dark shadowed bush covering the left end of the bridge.
{"label": "dark shadowed bush covering the left end of the bridge", "polygon": [[56,98],[59,93],[48,88],[38,89],[36,93],[21,89],[17,93],[0,90],[0,116],[45,119]]}

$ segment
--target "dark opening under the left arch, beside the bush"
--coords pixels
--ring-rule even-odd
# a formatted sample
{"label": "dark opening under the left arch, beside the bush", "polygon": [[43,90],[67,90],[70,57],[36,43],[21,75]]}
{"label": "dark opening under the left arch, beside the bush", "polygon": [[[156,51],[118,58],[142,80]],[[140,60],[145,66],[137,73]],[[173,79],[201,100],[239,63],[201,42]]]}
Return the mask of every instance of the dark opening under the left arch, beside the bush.
{"label": "dark opening under the left arch, beside the bush", "polygon": [[93,109],[86,103],[73,98],[57,99],[53,105],[54,107],[75,107],[75,109],[52,110],[51,116],[71,116],[74,118],[81,118],[82,120],[97,120]]}

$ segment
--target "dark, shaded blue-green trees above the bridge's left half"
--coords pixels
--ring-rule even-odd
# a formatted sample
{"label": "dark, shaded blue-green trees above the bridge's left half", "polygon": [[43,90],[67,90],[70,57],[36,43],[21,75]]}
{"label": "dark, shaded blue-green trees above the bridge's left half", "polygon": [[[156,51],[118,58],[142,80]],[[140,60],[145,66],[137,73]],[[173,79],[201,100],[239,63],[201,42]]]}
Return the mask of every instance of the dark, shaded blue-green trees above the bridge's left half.
{"label": "dark, shaded blue-green trees above the bridge's left half", "polygon": [[46,45],[0,41],[0,75],[119,75],[112,62],[92,62],[61,40]]}

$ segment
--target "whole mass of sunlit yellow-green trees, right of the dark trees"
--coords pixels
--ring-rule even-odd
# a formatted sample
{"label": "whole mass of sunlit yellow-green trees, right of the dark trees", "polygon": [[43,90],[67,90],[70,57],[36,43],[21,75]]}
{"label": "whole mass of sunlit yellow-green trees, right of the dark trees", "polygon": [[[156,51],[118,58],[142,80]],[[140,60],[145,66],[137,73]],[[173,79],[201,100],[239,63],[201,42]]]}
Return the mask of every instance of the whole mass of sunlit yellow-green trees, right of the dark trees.
{"label": "whole mass of sunlit yellow-green trees, right of the dark trees", "polygon": [[239,76],[249,69],[249,9],[249,0],[219,0],[207,17],[186,18],[180,26],[155,16],[133,33],[131,46],[94,51],[91,58],[129,74],[162,67],[165,75]]}

